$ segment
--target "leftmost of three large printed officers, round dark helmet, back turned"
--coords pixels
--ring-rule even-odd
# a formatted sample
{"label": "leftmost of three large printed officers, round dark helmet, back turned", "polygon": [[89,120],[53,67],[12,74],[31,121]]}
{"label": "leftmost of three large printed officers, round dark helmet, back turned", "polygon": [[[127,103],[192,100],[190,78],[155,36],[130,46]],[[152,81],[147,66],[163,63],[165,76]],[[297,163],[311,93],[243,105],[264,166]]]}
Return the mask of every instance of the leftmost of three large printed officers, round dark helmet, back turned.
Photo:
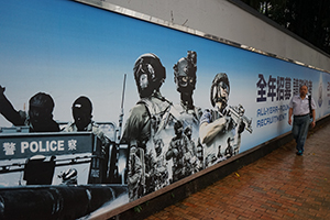
{"label": "leftmost of three large printed officers, round dark helmet, back turned", "polygon": [[[124,132],[121,143],[129,145],[128,158],[128,185],[130,200],[134,200],[145,194],[155,190],[153,184],[154,170],[157,153],[155,143],[157,143],[156,133],[162,122],[163,116],[168,113],[170,102],[167,101],[161,94],[160,88],[165,81],[166,70],[162,65],[161,59],[152,53],[141,55],[134,64],[134,79],[136,82],[140,100],[131,109],[130,116],[125,122]],[[160,151],[160,148],[157,148]],[[136,155],[134,152],[140,152]],[[142,153],[143,152],[143,153]],[[136,156],[139,160],[136,160]],[[134,166],[136,161],[143,162],[142,166]],[[130,174],[140,174],[138,170],[130,168],[143,168],[140,182],[131,182]],[[141,180],[144,179],[144,180]],[[135,178],[134,178],[135,180]],[[136,189],[143,188],[143,190]],[[133,195],[135,191],[142,191],[142,195]]]}

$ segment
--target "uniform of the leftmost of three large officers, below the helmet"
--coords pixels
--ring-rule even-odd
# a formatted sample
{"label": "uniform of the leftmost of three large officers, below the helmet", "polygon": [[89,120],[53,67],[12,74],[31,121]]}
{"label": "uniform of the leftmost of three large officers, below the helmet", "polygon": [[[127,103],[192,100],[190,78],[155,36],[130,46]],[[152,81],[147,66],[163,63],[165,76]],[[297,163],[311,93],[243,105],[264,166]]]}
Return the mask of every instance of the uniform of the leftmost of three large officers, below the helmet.
{"label": "uniform of the leftmost of three large officers, below the helmet", "polygon": [[[158,130],[164,114],[169,110],[170,105],[164,101],[164,98],[160,92],[155,92],[150,98],[141,99],[130,112],[130,117],[127,120],[125,129],[122,140],[131,146],[136,146],[143,151],[143,156],[140,155],[140,161],[144,161],[145,175],[144,182],[140,182],[140,185],[131,183],[130,174],[142,173],[140,170],[130,170],[130,168],[140,169],[142,166],[131,166],[128,173],[128,185],[133,191],[138,191],[138,188],[144,188],[143,194],[148,194],[155,190],[156,186],[154,179],[156,174],[154,166],[157,163],[156,150],[155,150],[155,133]],[[143,158],[142,158],[143,157]],[[133,164],[132,160],[135,160],[134,152],[130,152],[129,164]],[[133,185],[133,186],[132,186]],[[135,189],[133,189],[135,187]],[[136,196],[134,196],[136,197]],[[130,198],[131,199],[131,198]]]}

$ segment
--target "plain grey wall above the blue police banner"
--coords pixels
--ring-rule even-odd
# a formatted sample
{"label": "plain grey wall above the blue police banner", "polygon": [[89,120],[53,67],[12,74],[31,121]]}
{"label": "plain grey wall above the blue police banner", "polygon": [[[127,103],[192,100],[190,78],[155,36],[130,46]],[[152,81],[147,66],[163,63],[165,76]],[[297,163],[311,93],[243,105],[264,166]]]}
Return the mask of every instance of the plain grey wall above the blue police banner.
{"label": "plain grey wall above the blue police banner", "polygon": [[272,21],[270,24],[268,19],[249,11],[239,0],[106,2],[330,72],[329,55],[278,25],[272,25]]}

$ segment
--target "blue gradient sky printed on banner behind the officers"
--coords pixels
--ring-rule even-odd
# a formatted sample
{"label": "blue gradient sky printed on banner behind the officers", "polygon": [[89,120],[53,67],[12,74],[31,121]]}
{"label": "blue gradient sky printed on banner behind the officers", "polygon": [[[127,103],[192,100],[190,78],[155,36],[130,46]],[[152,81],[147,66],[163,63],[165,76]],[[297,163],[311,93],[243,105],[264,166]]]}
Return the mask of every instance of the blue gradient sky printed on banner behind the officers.
{"label": "blue gradient sky printed on banner behind the officers", "polygon": [[[221,72],[230,78],[230,105],[243,105],[246,116],[254,119],[257,108],[282,103],[256,103],[258,74],[320,80],[316,70],[306,67],[74,1],[0,2],[0,85],[16,109],[23,109],[38,91],[51,94],[54,118],[59,121],[70,121],[73,101],[86,95],[94,102],[96,121],[118,122],[124,74],[128,116],[139,99],[132,68],[148,52],[158,55],[166,67],[162,94],[179,102],[173,65],[190,50],[197,52],[195,103],[202,109],[210,107],[211,81]],[[0,125],[10,124],[0,117]],[[276,129],[280,133],[289,127],[283,123]],[[268,138],[276,136],[274,128],[268,130]],[[249,140],[248,145],[256,144],[255,139]]]}

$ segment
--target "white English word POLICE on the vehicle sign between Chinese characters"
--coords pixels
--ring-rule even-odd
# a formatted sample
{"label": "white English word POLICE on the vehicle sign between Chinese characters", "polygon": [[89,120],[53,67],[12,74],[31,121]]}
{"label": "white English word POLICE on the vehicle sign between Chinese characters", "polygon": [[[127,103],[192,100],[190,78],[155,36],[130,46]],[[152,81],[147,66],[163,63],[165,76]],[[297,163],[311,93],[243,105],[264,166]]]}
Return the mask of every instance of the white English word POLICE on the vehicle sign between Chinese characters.
{"label": "white English word POLICE on the vehicle sign between Chinese characters", "polygon": [[64,141],[46,141],[44,144],[42,141],[21,142],[21,153],[24,154],[25,150],[32,153],[64,151]]}

